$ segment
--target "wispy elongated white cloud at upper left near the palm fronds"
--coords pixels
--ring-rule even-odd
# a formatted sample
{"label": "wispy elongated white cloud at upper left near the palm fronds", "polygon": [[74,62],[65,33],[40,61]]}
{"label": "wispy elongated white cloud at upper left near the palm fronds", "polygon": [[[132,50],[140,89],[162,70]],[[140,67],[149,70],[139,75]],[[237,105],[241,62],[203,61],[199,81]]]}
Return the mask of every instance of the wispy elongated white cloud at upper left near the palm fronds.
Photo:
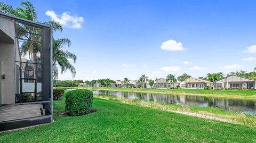
{"label": "wispy elongated white cloud at upper left near the palm fronds", "polygon": [[78,29],[82,27],[84,18],[82,16],[73,16],[69,12],[63,12],[57,15],[54,11],[46,11],[45,14],[50,16],[52,20],[59,22],[63,27]]}

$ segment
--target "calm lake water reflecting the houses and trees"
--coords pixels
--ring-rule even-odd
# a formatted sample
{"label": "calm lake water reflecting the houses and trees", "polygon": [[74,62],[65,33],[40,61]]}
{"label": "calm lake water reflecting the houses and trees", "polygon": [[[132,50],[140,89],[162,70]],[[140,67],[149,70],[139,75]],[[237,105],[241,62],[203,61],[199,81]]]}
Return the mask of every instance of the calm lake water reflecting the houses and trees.
{"label": "calm lake water reflecting the houses and trees", "polygon": [[256,100],[228,99],[191,95],[167,95],[145,92],[123,92],[108,90],[92,90],[97,95],[114,95],[120,98],[143,99],[150,102],[179,104],[181,106],[219,107],[226,111],[244,112],[256,115]]}

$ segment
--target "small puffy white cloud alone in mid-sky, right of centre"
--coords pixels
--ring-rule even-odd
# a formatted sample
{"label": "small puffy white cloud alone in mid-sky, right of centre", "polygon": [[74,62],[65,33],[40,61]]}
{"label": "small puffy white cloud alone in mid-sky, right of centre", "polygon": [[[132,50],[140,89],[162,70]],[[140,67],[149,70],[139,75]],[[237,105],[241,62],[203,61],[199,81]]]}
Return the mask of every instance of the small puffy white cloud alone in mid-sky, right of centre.
{"label": "small puffy white cloud alone in mid-sky, right of centre", "polygon": [[182,43],[175,40],[167,40],[162,43],[161,49],[166,51],[185,51],[182,47]]}

